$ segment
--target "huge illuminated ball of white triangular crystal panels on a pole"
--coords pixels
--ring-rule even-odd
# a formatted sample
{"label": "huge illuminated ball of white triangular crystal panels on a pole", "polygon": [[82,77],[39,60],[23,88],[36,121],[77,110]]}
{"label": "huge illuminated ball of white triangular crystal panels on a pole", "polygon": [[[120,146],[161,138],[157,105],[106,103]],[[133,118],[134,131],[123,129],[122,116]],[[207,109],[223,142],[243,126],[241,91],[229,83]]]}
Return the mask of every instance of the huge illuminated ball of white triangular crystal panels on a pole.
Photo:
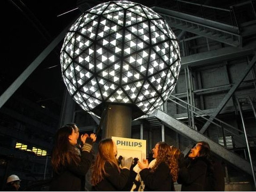
{"label": "huge illuminated ball of white triangular crystal panels on a pole", "polygon": [[107,103],[132,106],[137,117],[153,113],[173,91],[181,66],[167,22],[129,1],[84,12],[66,34],[60,62],[71,97],[97,116]]}

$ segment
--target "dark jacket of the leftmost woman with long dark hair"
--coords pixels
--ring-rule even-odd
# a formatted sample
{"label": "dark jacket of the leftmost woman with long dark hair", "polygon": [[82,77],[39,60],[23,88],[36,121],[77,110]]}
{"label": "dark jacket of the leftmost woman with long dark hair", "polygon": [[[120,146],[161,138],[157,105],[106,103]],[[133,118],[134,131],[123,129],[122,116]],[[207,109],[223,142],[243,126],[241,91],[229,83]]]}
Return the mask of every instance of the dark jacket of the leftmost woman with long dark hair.
{"label": "dark jacket of the leftmost woman with long dark hair", "polygon": [[59,173],[53,173],[50,191],[84,191],[85,174],[92,163],[92,152],[82,151],[81,162],[62,167]]}

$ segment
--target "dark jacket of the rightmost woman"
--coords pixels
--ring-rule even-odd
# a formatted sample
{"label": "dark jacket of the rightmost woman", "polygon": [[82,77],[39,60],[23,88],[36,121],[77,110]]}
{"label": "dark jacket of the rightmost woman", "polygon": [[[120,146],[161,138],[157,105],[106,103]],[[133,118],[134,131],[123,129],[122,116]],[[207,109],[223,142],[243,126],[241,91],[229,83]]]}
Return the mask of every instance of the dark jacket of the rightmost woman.
{"label": "dark jacket of the rightmost woman", "polygon": [[178,183],[181,191],[204,191],[207,171],[207,161],[203,157],[191,159],[188,166],[180,167]]}

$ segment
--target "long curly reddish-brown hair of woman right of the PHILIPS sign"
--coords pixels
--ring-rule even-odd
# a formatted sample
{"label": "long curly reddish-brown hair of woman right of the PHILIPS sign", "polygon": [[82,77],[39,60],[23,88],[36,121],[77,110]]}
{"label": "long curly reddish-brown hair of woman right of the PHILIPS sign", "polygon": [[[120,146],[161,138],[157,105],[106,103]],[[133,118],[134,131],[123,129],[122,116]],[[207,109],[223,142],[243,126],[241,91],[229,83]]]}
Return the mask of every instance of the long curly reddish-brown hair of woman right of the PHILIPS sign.
{"label": "long curly reddish-brown hair of woman right of the PHILIPS sign", "polygon": [[166,163],[169,166],[170,174],[172,175],[172,181],[175,182],[178,179],[178,160],[172,155],[170,146],[165,142],[157,142],[158,151],[156,157],[156,163],[152,167],[154,172],[159,164]]}

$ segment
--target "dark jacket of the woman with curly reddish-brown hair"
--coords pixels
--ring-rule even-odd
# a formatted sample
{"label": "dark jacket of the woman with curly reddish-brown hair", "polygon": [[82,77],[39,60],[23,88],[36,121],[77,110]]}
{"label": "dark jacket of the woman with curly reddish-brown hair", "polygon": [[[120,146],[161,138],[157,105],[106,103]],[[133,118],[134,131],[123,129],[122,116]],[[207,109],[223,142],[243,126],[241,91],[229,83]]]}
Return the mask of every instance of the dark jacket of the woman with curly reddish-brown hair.
{"label": "dark jacket of the woman with curly reddish-brown hair", "polygon": [[145,184],[144,191],[172,191],[173,181],[169,166],[162,162],[154,172],[150,169],[140,171],[140,177]]}

